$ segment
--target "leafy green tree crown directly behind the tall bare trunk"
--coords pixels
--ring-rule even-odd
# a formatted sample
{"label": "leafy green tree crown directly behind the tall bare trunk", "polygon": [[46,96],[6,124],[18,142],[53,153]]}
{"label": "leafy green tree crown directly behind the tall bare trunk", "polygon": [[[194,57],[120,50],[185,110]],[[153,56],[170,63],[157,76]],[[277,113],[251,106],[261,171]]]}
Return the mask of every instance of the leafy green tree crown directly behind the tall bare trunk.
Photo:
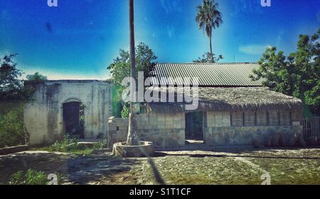
{"label": "leafy green tree crown directly behind the tall bare trunk", "polygon": [[[137,72],[144,72],[145,79],[152,76],[152,70],[156,66],[156,59],[154,52],[143,42],[140,42],[136,48],[136,69]],[[120,50],[119,57],[116,57],[107,69],[110,70],[114,84],[121,85],[122,80],[130,76],[129,52]]]}

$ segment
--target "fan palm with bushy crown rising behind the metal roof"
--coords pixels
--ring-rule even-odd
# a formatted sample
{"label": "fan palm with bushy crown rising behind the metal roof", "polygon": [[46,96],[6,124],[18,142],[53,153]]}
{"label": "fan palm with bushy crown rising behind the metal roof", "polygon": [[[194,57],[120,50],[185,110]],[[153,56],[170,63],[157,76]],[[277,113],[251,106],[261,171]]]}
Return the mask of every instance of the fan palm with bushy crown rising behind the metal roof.
{"label": "fan palm with bushy crown rising behind the metal roof", "polygon": [[215,0],[203,0],[201,6],[197,6],[198,14],[196,16],[196,22],[199,23],[199,29],[206,30],[206,34],[210,40],[210,54],[211,62],[213,60],[212,52],[212,30],[218,28],[222,23],[222,13],[218,11],[218,3]]}

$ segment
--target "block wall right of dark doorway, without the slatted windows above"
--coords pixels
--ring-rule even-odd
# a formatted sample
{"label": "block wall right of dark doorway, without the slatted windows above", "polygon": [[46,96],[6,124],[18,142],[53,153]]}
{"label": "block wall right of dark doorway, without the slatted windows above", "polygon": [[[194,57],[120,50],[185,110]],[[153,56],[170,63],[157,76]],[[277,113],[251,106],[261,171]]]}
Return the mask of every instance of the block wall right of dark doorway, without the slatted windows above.
{"label": "block wall right of dark doorway, without the slatted windows above", "polygon": [[[280,115],[287,113],[285,110],[278,110]],[[277,112],[274,110],[274,112]],[[287,113],[290,115],[290,113]],[[246,145],[251,144],[252,140],[259,140],[265,144],[270,137],[282,135],[289,143],[294,137],[302,135],[302,126],[299,118],[301,113],[292,113],[292,123],[278,122],[269,123],[269,125],[252,125],[253,123],[241,122],[241,125],[235,126],[230,121],[230,112],[207,112],[206,127],[204,128],[204,142],[208,145]],[[289,116],[287,116],[289,117]],[[285,118],[285,117],[283,117]]]}

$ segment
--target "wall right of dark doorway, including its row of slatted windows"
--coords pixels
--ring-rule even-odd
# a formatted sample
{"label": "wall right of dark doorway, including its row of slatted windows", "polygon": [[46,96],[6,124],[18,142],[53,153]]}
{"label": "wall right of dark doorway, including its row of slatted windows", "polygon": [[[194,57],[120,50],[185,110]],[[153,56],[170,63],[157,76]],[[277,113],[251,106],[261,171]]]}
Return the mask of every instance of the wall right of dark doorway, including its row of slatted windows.
{"label": "wall right of dark doorway, including its row of slatted windows", "polygon": [[[207,112],[204,127],[204,142],[208,145],[247,145],[252,141],[262,145],[292,145],[294,139],[302,135],[299,120],[302,113],[289,110],[272,110],[279,115],[277,120],[271,120],[271,111],[245,112]],[[269,118],[268,118],[269,117]],[[286,120],[284,122],[284,119]],[[266,120],[260,125],[260,120]],[[284,125],[285,124],[285,125]],[[281,138],[281,140],[280,140]],[[277,139],[277,140],[276,140]]]}

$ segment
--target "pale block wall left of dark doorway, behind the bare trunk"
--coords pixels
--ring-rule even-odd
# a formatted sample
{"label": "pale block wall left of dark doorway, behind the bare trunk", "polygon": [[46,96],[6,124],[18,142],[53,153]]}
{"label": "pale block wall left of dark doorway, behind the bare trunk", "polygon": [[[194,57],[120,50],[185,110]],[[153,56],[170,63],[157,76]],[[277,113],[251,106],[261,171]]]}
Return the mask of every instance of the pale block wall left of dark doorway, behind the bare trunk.
{"label": "pale block wall left of dark doorway, behind the bare trunk", "polygon": [[[185,116],[177,114],[136,115],[137,134],[142,141],[154,142],[156,148],[179,147],[185,144]],[[127,140],[127,118],[110,118],[109,146]]]}

